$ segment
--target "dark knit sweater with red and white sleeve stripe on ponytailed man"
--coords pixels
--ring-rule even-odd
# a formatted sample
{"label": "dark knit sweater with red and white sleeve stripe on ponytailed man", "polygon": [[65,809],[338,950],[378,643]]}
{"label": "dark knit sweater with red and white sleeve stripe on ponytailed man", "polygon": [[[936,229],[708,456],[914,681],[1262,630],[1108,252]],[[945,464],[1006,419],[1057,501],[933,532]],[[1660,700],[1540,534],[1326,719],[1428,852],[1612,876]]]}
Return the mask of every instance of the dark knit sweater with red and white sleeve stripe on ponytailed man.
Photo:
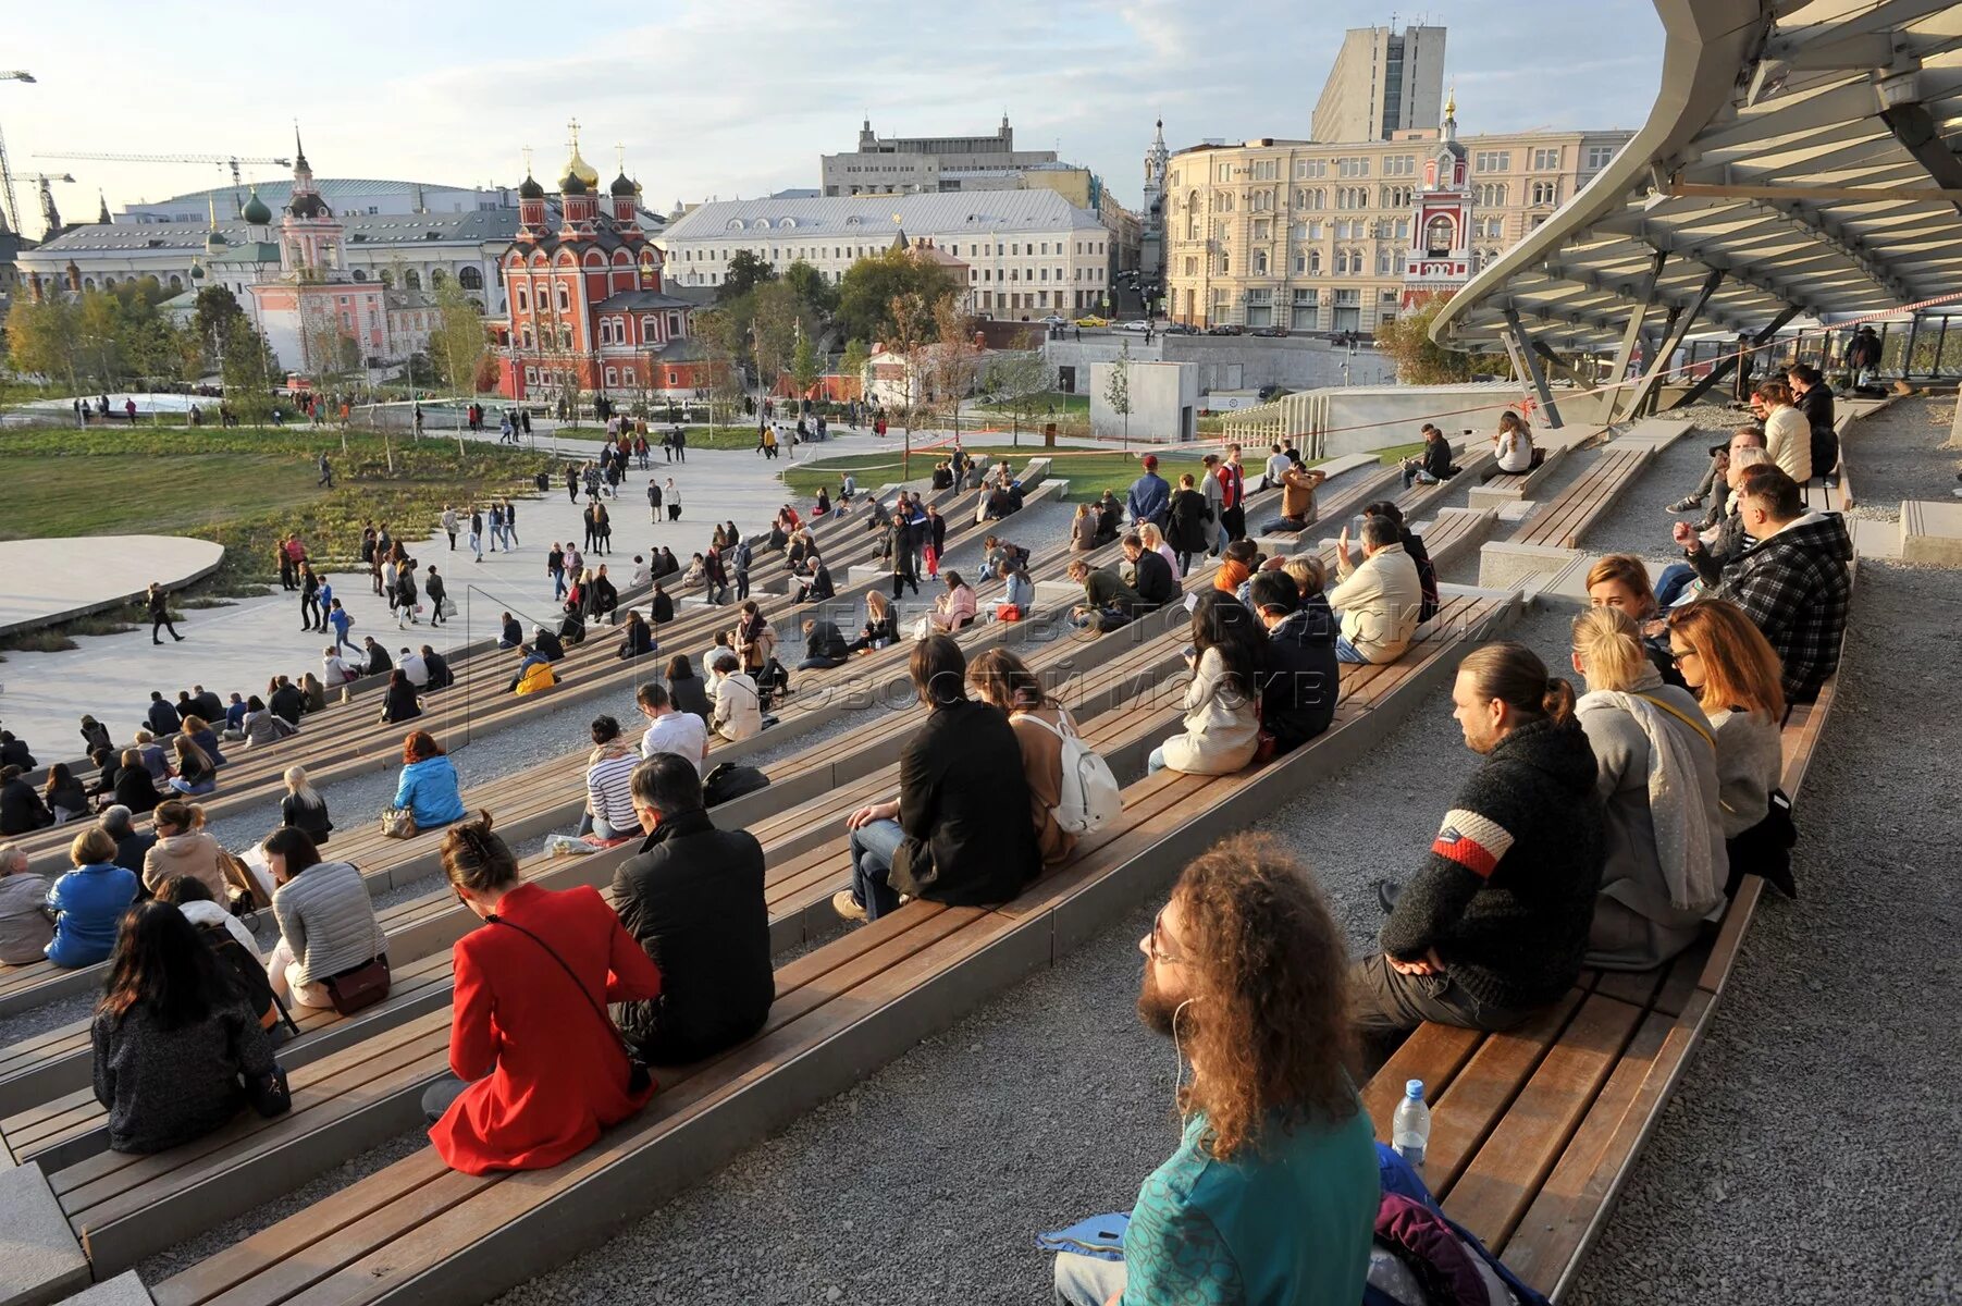
{"label": "dark knit sweater with red and white sleeve stripe on ponytailed man", "polygon": [[1605,824],[1595,757],[1575,722],[1507,733],[1452,810],[1383,922],[1383,951],[1432,947],[1479,1002],[1540,1006],[1566,992],[1587,951]]}

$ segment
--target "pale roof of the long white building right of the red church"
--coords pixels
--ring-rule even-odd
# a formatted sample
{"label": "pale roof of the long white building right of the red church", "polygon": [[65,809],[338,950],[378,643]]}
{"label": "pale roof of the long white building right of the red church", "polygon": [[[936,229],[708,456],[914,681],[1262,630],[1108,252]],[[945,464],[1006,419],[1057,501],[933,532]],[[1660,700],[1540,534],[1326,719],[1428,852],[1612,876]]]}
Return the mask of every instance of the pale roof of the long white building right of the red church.
{"label": "pale roof of the long white building right of the red church", "polygon": [[[734,227],[730,224],[742,224]],[[981,190],[946,194],[853,194],[814,200],[720,200],[667,224],[669,241],[779,235],[893,237],[952,231],[1101,231],[1097,214],[1054,190]]]}

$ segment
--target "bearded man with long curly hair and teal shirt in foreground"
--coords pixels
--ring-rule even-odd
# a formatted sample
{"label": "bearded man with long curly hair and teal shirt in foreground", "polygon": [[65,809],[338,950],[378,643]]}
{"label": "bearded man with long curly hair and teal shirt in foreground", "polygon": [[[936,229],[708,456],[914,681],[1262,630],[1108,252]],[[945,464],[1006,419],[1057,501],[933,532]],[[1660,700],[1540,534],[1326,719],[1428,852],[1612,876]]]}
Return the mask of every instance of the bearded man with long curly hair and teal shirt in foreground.
{"label": "bearded man with long curly hair and teal shirt in foreground", "polygon": [[1320,894],[1236,835],[1185,867],[1138,947],[1138,1016],[1193,1069],[1183,1137],[1138,1190],[1122,1261],[1056,1259],[1058,1306],[1360,1302],[1381,1188]]}

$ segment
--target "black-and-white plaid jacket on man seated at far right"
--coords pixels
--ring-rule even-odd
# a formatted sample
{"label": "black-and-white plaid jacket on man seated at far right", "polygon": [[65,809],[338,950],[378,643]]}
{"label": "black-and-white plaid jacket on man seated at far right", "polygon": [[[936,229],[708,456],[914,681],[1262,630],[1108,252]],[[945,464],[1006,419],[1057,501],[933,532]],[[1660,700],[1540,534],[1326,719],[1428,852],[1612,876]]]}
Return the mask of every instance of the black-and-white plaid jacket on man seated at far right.
{"label": "black-and-white plaid jacket on man seated at far right", "polygon": [[1852,598],[1852,535],[1836,514],[1809,514],[1746,549],[1725,571],[1717,598],[1758,624],[1783,663],[1785,698],[1811,702],[1838,669]]}

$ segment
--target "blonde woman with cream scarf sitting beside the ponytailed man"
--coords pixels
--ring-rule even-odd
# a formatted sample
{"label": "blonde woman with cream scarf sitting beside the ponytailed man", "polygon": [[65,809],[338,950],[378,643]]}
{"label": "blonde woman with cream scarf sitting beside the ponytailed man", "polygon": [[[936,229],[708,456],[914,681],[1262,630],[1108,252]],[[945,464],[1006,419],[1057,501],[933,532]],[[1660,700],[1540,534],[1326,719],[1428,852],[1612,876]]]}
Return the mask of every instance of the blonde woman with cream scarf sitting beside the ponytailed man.
{"label": "blonde woman with cream scarf sitting beside the ponytailed man", "polygon": [[1717,735],[1689,690],[1662,682],[1626,612],[1574,620],[1574,716],[1607,806],[1607,865],[1587,965],[1650,971],[1695,943],[1723,904],[1729,857],[1717,804]]}

